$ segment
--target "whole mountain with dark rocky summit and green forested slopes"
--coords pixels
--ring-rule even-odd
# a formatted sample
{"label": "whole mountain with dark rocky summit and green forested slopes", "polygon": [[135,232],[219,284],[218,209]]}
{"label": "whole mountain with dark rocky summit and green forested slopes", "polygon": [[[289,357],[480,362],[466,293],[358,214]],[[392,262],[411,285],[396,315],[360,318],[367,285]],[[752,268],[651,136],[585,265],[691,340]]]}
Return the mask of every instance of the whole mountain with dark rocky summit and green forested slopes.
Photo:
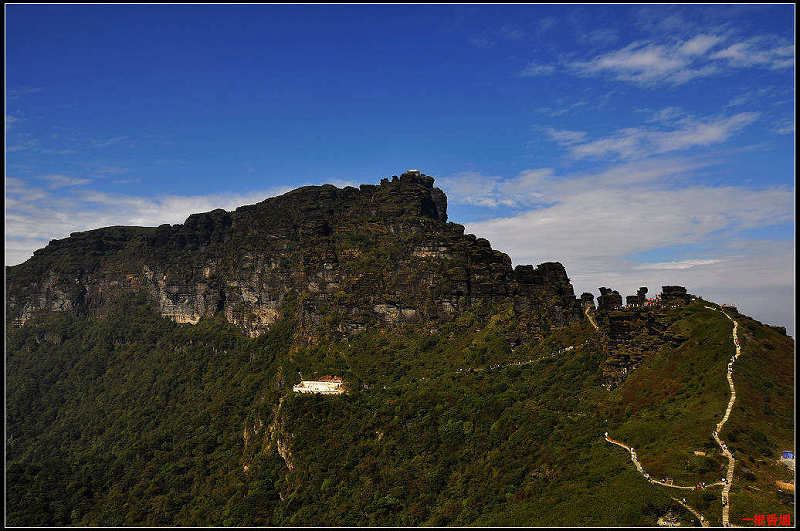
{"label": "whole mountain with dark rocky summit and green forested slopes", "polygon": [[[6,268],[7,523],[793,521],[785,330],[680,286],[595,306],[448,223],[433,182],[74,233]],[[326,375],[346,392],[292,390]]]}

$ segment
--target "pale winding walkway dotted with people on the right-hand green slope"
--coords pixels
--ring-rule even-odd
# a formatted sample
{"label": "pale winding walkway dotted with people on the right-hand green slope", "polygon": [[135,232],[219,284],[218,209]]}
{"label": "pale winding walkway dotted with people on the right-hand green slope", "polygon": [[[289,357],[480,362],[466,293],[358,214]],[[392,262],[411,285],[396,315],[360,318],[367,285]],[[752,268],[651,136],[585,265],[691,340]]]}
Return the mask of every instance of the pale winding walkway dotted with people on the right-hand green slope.
{"label": "pale winding walkway dotted with people on the right-hand green slope", "polygon": [[[717,481],[715,483],[711,483],[711,484],[706,485],[705,487],[703,487],[703,488],[710,488],[710,487],[715,487],[715,486],[718,486],[718,485],[722,485],[722,526],[723,527],[731,527],[730,520],[729,520],[729,514],[730,514],[729,494],[730,494],[730,491],[731,491],[731,485],[733,484],[733,469],[736,466],[736,460],[733,458],[733,454],[730,452],[730,450],[728,450],[727,445],[722,441],[722,439],[719,438],[719,432],[722,430],[723,426],[725,426],[725,423],[728,421],[728,417],[731,414],[731,410],[733,410],[733,403],[736,401],[736,388],[733,386],[732,371],[733,371],[734,362],[739,358],[739,355],[741,354],[741,347],[739,345],[739,337],[737,335],[737,331],[738,331],[738,328],[739,328],[739,323],[737,323],[731,316],[729,316],[727,313],[725,313],[722,310],[717,310],[716,308],[712,308],[711,306],[705,306],[705,308],[708,308],[709,310],[719,311],[720,313],[722,313],[722,315],[724,315],[725,317],[727,317],[728,319],[730,319],[733,322],[733,333],[732,333],[732,335],[733,335],[733,345],[734,345],[734,347],[736,347],[736,354],[734,354],[733,358],[731,358],[731,361],[728,363],[728,366],[727,366],[727,369],[726,369],[726,377],[728,379],[728,386],[730,387],[730,390],[731,390],[731,398],[728,401],[728,407],[725,409],[725,414],[723,415],[722,420],[716,425],[716,428],[712,432],[712,436],[714,437],[714,440],[719,445],[720,450],[722,450],[722,454],[725,457],[728,458],[728,471],[727,471],[727,474],[725,476],[725,482],[724,483],[721,482],[721,481]],[[589,318],[589,322],[591,322],[592,325],[595,328],[597,328],[597,325],[594,323],[592,318],[589,316],[589,308],[588,307],[586,308],[586,317],[588,317]],[[636,469],[650,483],[654,483],[654,484],[661,485],[661,486],[664,486],[664,487],[670,487],[670,488],[673,488],[673,489],[696,490],[695,487],[686,487],[686,486],[682,486],[682,485],[668,485],[668,484],[666,484],[666,483],[664,483],[662,481],[657,481],[657,480],[652,479],[650,477],[650,475],[647,474],[644,471],[644,468],[642,468],[641,463],[639,463],[639,460],[636,457],[636,450],[634,450],[630,446],[626,445],[625,443],[622,443],[622,442],[619,442],[619,441],[615,441],[614,439],[611,439],[608,436],[608,432],[605,433],[603,438],[606,441],[610,442],[611,444],[616,444],[617,446],[625,448],[631,454],[631,461],[633,461],[633,464],[636,466]],[[678,503],[680,503],[681,505],[686,507],[686,509],[691,511],[695,516],[697,516],[697,518],[700,519],[700,523],[704,527],[708,527],[709,526],[708,521],[705,520],[705,518],[703,517],[702,514],[700,514],[699,512],[695,511],[694,509],[692,509],[691,507],[689,507],[685,503],[677,500],[676,498],[673,498],[673,500],[677,501]]]}

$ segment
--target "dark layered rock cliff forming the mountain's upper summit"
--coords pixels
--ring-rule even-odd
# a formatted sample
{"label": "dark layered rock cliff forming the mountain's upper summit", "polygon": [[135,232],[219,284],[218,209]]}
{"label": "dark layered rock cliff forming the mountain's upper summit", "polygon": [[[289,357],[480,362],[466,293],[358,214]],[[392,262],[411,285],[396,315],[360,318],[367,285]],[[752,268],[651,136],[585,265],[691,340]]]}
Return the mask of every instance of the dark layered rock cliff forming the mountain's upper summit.
{"label": "dark layered rock cliff forming the mountain's upper summit", "polygon": [[103,316],[144,290],[164,316],[197,323],[222,312],[255,337],[289,300],[298,335],[370,324],[446,320],[474,304],[510,303],[525,335],[580,319],[563,266],[517,266],[447,223],[433,178],[293,190],[183,225],[107,227],[53,240],[7,268],[7,319],[42,311]]}

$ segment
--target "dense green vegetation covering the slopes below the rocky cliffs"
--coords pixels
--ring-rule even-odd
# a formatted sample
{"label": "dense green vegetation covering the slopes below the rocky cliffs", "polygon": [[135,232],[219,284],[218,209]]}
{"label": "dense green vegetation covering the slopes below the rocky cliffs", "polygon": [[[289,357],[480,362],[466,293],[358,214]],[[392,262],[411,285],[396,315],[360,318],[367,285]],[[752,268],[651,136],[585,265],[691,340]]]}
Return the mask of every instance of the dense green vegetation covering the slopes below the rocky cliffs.
{"label": "dense green vegetation covering the slopes below the rocky cliffs", "polygon": [[[730,321],[701,303],[674,310],[686,340],[608,392],[588,323],[512,350],[514,319],[476,306],[440,328],[311,346],[290,317],[250,339],[221,318],[175,324],[144,298],[104,319],[32,320],[7,336],[7,523],[653,525],[668,509],[692,522],[601,435],[654,473],[718,479]],[[793,342],[737,319],[732,520],[794,518],[774,487],[793,439]],[[291,392],[324,374],[349,393]],[[687,501],[719,523],[718,490]]]}

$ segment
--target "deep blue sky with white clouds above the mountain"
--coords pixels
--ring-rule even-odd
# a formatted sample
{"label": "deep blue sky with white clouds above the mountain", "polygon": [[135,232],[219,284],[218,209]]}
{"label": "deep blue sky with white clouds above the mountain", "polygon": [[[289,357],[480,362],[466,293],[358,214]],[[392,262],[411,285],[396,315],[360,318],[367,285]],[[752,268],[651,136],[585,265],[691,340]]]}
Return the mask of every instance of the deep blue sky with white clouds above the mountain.
{"label": "deep blue sky with white clouds above the mountain", "polygon": [[5,9],[7,264],[420,168],[578,294],[684,284],[793,330],[791,5]]}

